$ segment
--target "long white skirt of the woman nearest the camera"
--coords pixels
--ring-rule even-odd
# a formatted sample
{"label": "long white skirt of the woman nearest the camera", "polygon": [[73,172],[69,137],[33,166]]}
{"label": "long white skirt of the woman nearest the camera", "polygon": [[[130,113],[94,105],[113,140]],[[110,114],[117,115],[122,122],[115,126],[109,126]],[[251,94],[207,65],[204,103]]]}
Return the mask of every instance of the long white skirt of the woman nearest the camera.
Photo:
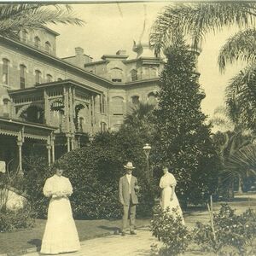
{"label": "long white skirt of the woman nearest the camera", "polygon": [[68,198],[49,201],[48,218],[41,253],[55,254],[78,251],[79,235]]}

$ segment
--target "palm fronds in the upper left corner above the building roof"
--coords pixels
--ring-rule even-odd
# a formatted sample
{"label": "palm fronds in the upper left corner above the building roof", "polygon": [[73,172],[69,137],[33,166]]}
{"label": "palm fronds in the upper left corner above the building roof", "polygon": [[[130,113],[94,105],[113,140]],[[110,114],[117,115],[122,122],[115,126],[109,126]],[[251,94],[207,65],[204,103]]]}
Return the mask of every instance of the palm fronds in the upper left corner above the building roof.
{"label": "palm fronds in the upper left corner above the building roof", "polygon": [[69,5],[49,3],[0,4],[0,34],[18,38],[23,29],[40,29],[49,23],[83,25]]}

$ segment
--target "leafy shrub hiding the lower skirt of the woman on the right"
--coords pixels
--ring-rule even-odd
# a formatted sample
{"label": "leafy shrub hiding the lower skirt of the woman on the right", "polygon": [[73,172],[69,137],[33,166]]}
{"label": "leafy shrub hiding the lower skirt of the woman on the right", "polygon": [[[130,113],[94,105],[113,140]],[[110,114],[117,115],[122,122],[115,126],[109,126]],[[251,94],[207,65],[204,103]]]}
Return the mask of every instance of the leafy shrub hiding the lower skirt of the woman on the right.
{"label": "leafy shrub hiding the lower skirt of the woman on the right", "polygon": [[[153,236],[162,241],[164,247],[160,247],[157,255],[178,255],[184,253],[189,245],[189,230],[182,223],[182,218],[172,209],[172,214],[163,211],[159,206],[154,207],[154,218],[151,221],[151,231]],[[155,251],[154,247],[154,251]],[[154,252],[155,253],[155,252]]]}

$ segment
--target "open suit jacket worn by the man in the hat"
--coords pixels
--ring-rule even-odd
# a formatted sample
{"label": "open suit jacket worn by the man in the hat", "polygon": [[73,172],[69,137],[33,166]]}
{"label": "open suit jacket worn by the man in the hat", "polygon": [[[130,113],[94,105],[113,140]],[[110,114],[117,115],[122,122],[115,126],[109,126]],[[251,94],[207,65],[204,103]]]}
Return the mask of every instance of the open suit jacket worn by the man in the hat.
{"label": "open suit jacket worn by the man in the hat", "polygon": [[[137,186],[137,177],[131,175],[131,202],[137,205],[138,201],[134,189],[135,186]],[[125,206],[128,206],[130,202],[129,183],[126,175],[119,179],[119,202]]]}

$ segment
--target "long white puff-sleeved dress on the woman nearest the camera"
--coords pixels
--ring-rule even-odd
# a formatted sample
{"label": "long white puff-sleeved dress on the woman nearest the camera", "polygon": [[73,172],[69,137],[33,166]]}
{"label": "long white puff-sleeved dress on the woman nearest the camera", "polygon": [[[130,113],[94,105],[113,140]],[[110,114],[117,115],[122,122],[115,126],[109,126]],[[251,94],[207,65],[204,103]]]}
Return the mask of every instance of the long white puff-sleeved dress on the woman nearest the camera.
{"label": "long white puff-sleeved dress on the woman nearest the camera", "polygon": [[[48,218],[42,240],[41,253],[55,254],[78,251],[80,248],[68,196],[73,193],[72,185],[67,177],[54,175],[49,177],[43,189],[49,201]],[[63,197],[56,197],[61,193]]]}

